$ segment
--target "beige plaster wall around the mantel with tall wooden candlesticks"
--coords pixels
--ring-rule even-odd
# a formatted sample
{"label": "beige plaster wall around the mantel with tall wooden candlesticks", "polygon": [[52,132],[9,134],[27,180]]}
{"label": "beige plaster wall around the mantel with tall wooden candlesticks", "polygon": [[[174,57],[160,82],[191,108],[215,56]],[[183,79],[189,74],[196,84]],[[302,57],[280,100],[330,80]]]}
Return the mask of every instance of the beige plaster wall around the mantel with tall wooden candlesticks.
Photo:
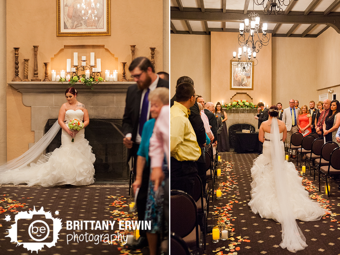
{"label": "beige plaster wall around the mantel with tall wooden candlesticks", "polygon": [[[19,5],[7,0],[7,3],[7,82],[15,75],[13,47],[20,47],[19,76],[23,79],[23,58],[30,58],[29,79],[32,79],[33,45],[39,45],[40,79],[44,78],[43,62],[50,62],[64,45],[105,45],[119,62],[127,62],[127,65],[131,63],[130,45],[136,45],[135,57],[151,57],[149,47],[156,47],[155,69],[163,70],[163,0],[112,1],[111,36],[88,37],[56,37],[55,0],[36,0],[34,4],[20,1]],[[119,73],[121,71],[119,67]],[[127,77],[130,78],[129,72]],[[7,85],[7,160],[21,155],[34,141],[30,120],[31,107],[24,106],[21,93]]]}

